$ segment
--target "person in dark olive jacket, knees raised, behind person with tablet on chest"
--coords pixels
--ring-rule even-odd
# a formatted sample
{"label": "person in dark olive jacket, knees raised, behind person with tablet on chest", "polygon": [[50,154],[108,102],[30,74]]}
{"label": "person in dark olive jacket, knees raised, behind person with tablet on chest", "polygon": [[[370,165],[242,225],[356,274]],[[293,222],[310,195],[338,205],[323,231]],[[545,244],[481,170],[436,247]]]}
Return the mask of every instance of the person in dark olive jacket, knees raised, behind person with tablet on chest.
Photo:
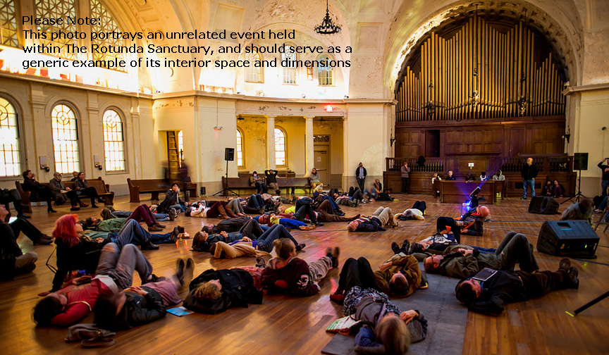
{"label": "person in dark olive jacket, knees raised, behind person with tablet on chest", "polygon": [[468,278],[484,268],[520,270],[534,273],[539,270],[529,239],[517,232],[508,232],[495,254],[480,253],[476,249],[450,249],[445,255],[429,256],[423,261],[427,273],[440,273],[453,278]]}

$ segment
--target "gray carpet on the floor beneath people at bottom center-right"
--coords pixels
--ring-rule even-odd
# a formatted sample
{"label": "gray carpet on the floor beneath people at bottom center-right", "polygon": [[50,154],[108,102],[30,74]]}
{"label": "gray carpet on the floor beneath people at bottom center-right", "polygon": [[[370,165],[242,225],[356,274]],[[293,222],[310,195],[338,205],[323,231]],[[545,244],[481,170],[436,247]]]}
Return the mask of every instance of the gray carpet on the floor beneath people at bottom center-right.
{"label": "gray carpet on the floor beneath people at bottom center-right", "polygon": [[[423,268],[422,263],[419,267]],[[405,299],[391,299],[401,311],[419,310],[427,320],[427,337],[410,346],[410,354],[461,354],[467,308],[455,298],[455,286],[459,280],[440,275],[427,275],[429,288],[417,289]],[[335,335],[321,351],[331,355],[353,355],[353,336]]]}

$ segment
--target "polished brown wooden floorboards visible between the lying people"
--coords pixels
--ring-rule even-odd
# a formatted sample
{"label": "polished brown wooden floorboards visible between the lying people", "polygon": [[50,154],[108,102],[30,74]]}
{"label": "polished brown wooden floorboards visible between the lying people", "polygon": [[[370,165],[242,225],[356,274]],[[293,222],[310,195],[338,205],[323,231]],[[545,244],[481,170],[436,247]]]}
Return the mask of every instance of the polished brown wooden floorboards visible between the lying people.
{"label": "polished brown wooden floorboards visible between the lying people", "polygon": [[[356,213],[370,214],[381,205],[390,206],[394,212],[412,206],[416,199],[425,199],[428,209],[426,220],[400,223],[400,228],[377,233],[347,233],[346,223],[327,223],[311,232],[293,232],[299,242],[307,247],[299,257],[314,261],[323,256],[326,247],[339,246],[342,261],[347,257],[365,256],[374,267],[390,256],[390,242],[402,239],[417,241],[428,237],[435,229],[438,216],[458,216],[460,206],[440,204],[423,195],[396,195],[400,201],[372,202],[358,208],[345,207],[347,216]],[[150,202],[150,201],[144,201]],[[527,213],[528,201],[505,199],[493,204],[492,222],[485,223],[484,237],[462,237],[464,244],[481,247],[497,247],[506,232],[522,232],[532,244],[536,244],[539,228],[544,220],[558,220],[559,215],[540,216]],[[560,207],[562,212],[570,202]],[[132,209],[128,197],[116,199],[116,209]],[[57,208],[59,213],[47,215],[44,206],[34,208],[32,222],[51,233],[54,219],[68,213],[68,208]],[[99,210],[83,208],[81,219],[97,216]],[[598,218],[598,215],[595,215]],[[194,235],[207,220],[180,216],[169,226],[184,225]],[[609,290],[609,242],[599,228],[601,247],[598,259],[572,261],[579,268],[579,289],[553,292],[541,299],[510,304],[499,317],[469,313],[465,332],[464,354],[608,354],[609,299],[605,299],[577,317],[567,315],[578,306]],[[164,244],[158,251],[144,251],[157,275],[170,275],[177,257],[192,256],[197,268],[195,275],[207,268],[231,268],[253,265],[254,259],[211,259],[209,253],[190,251],[192,239],[177,244]],[[2,354],[49,354],[79,351],[80,344],[63,341],[67,330],[59,328],[35,328],[32,306],[39,292],[51,287],[53,274],[44,265],[53,251],[51,246],[32,246],[30,239],[18,240],[23,251],[35,251],[39,255],[37,269],[28,275],[20,275],[14,281],[0,282],[0,334]],[[539,254],[536,257],[541,269],[558,268],[558,257]],[[54,258],[51,258],[54,263]],[[331,335],[324,329],[332,320],[342,316],[340,306],[328,298],[336,288],[338,270],[331,270],[322,285],[321,292],[309,298],[285,296],[265,297],[262,305],[247,309],[229,309],[217,316],[194,313],[178,318],[168,314],[163,320],[139,328],[120,332],[116,345],[100,349],[102,354],[319,354]],[[139,284],[137,275],[134,283]],[[433,292],[433,289],[417,292]],[[457,300],[455,299],[455,302]],[[423,313],[424,309],[421,310]],[[85,320],[92,320],[86,318]],[[86,322],[83,322],[86,323]]]}

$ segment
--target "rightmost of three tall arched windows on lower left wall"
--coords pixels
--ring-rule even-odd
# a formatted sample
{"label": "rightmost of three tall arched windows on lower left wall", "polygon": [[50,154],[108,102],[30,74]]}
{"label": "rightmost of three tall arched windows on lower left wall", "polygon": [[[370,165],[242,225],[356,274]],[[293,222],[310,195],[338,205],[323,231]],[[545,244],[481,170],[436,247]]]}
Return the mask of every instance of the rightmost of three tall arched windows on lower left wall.
{"label": "rightmost of three tall arched windows on lower left wall", "polygon": [[106,171],[126,170],[123,121],[121,116],[114,110],[106,110],[104,112],[103,126]]}

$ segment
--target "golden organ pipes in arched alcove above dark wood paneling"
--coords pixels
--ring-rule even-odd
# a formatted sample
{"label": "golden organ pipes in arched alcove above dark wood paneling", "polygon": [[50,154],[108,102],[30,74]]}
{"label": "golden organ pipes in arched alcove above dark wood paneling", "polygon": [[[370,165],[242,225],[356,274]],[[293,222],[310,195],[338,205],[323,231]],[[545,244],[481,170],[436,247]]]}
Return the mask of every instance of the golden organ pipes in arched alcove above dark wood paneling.
{"label": "golden organ pipes in arched alcove above dark wood paneling", "polygon": [[567,78],[539,38],[522,20],[496,26],[477,15],[456,32],[430,32],[396,85],[397,122],[564,115]]}

